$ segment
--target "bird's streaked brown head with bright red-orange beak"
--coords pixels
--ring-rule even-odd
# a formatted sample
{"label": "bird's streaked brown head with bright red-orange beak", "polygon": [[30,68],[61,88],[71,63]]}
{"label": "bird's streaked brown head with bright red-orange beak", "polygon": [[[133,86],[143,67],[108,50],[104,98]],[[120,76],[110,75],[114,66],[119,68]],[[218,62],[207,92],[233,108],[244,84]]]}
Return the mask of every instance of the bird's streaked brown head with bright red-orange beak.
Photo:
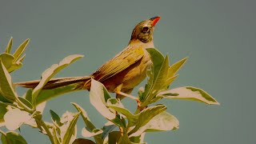
{"label": "bird's streaked brown head with bright red-orange beak", "polygon": [[130,41],[139,40],[140,42],[151,42],[153,40],[154,26],[160,19],[160,16],[139,22],[131,34]]}

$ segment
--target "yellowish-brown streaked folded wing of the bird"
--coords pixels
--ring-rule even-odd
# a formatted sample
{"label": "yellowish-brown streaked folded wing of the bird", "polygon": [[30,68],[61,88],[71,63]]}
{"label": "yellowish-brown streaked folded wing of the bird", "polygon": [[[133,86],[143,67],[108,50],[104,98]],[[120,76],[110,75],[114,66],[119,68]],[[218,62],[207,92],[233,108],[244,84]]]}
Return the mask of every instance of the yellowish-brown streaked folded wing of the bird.
{"label": "yellowish-brown streaked folded wing of the bird", "polygon": [[110,61],[102,65],[92,75],[97,81],[103,82],[133,65],[135,62],[138,62],[143,56],[144,50],[142,46],[128,46],[114,58],[110,59]]}

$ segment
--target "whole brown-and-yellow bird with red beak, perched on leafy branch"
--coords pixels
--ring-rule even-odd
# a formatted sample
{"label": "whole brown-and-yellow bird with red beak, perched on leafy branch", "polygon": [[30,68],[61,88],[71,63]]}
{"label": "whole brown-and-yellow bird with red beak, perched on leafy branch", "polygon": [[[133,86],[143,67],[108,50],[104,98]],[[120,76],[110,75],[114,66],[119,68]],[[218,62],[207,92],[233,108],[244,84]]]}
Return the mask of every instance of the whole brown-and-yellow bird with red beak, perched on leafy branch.
{"label": "whole brown-and-yellow bird with red beak, perched on leafy branch", "polygon": [[[108,92],[130,97],[134,87],[146,78],[146,71],[152,64],[146,48],[154,48],[154,26],[159,19],[160,16],[156,16],[139,22],[131,33],[128,46],[89,76],[52,78],[42,89],[49,90],[77,84],[78,90],[90,90],[93,78],[101,82]],[[34,89],[39,82],[40,80],[17,82],[14,85]]]}

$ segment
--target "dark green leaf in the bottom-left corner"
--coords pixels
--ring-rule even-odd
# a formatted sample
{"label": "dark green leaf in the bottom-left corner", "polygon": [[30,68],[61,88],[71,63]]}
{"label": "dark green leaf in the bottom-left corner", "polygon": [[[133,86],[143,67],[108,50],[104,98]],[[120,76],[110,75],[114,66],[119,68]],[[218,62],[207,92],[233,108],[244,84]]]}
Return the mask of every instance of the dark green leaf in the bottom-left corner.
{"label": "dark green leaf in the bottom-left corner", "polygon": [[5,139],[3,144],[26,144],[26,140],[22,138],[22,136],[14,131],[10,131],[6,133],[6,135],[2,134],[1,140]]}

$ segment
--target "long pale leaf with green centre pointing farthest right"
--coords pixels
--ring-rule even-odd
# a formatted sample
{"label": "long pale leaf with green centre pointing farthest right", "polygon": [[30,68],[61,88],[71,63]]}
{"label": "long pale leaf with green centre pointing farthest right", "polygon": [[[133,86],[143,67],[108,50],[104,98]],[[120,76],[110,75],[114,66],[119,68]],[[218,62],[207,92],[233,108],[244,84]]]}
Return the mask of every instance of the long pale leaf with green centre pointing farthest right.
{"label": "long pale leaf with green centre pointing farthest right", "polygon": [[168,99],[188,99],[204,102],[209,105],[219,105],[219,103],[211,97],[210,94],[206,93],[206,91],[192,86],[178,87],[162,91],[158,95]]}

